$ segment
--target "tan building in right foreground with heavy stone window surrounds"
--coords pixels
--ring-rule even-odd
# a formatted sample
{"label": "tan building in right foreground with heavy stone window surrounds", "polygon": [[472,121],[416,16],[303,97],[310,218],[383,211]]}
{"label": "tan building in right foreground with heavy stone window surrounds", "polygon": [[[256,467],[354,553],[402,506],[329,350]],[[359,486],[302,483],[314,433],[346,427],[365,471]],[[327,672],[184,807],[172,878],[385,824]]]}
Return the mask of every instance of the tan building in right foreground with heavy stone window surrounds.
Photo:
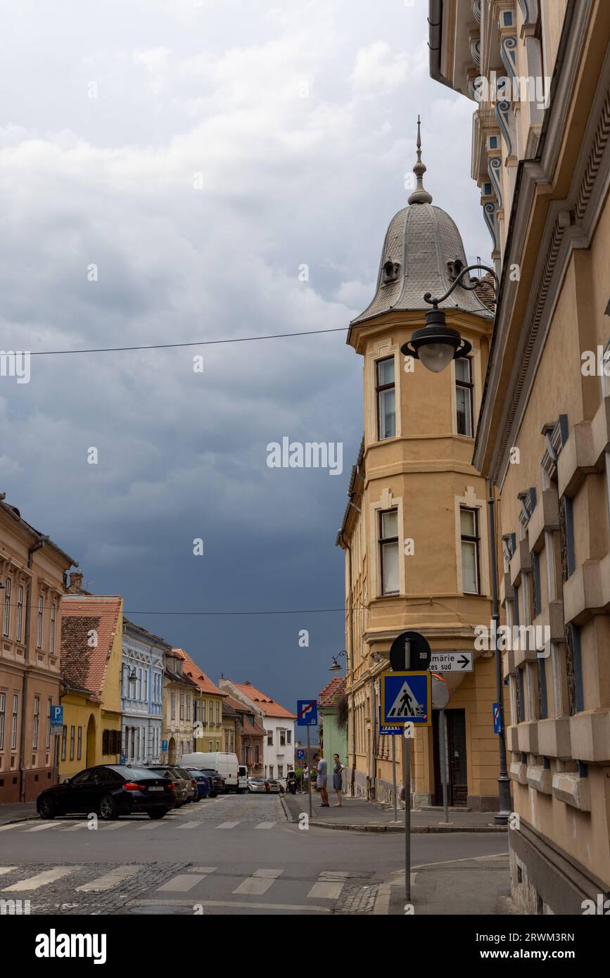
{"label": "tan building in right foreground with heavy stone window surrounds", "polygon": [[[501,272],[473,462],[506,620],[546,630],[503,656],[512,895],[581,914],[610,897],[610,4],[431,0],[429,23],[432,76],[473,99]],[[494,75],[509,97],[477,104]]]}

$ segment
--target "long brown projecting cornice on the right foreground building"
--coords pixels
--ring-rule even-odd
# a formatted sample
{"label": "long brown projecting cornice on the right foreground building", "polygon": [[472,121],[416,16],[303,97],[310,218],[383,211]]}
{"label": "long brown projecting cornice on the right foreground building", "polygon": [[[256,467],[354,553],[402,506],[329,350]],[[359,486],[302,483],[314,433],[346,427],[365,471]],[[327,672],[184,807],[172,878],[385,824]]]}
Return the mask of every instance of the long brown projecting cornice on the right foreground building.
{"label": "long brown projecting cornice on the right foreground building", "polygon": [[[599,81],[592,106],[578,105],[587,94],[577,91],[579,70],[594,71],[583,58],[594,35],[589,22],[593,6],[593,0],[568,4],[539,156],[519,164],[473,457],[474,466],[491,472],[497,484],[518,435],[569,258],[576,247],[590,243],[608,190],[608,52],[596,74]],[[588,116],[580,155],[572,163],[570,111]],[[535,264],[528,260],[528,252],[538,255]],[[519,282],[510,281],[506,274],[515,264],[521,269]]]}

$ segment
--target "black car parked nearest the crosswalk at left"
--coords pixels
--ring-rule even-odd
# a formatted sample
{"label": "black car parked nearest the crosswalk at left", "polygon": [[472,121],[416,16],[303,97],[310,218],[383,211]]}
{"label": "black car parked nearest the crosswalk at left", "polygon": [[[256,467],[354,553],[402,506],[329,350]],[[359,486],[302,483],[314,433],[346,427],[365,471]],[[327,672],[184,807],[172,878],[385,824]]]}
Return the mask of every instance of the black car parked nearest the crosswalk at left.
{"label": "black car parked nearest the crosswalk at left", "polygon": [[42,819],[73,812],[95,812],[105,821],[134,812],[162,819],[175,804],[174,785],[162,775],[146,768],[100,764],[46,788],[36,799],[36,811]]}

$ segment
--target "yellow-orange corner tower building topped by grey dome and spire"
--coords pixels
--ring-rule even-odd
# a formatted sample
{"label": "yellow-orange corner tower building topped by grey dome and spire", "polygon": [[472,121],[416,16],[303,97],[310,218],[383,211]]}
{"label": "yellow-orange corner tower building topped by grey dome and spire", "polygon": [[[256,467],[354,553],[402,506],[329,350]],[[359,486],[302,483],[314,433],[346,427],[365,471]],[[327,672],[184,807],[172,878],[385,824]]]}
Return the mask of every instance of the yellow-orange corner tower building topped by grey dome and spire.
{"label": "yellow-orange corner tower building topped by grey dome and spire", "polygon": [[[433,652],[472,653],[472,672],[444,673],[452,688],[449,803],[493,811],[495,664],[491,650],[475,647],[474,631],[489,628],[491,619],[487,496],[471,460],[494,312],[484,280],[477,288],[457,286],[439,308],[471,344],[469,355],[435,374],[401,353],[424,325],[430,309],[424,293],[444,295],[466,266],[455,221],[423,186],[419,119],[416,156],[416,187],[390,221],[374,295],[347,336],[363,359],[365,408],[336,537],[345,552],[348,766],[355,794],[391,799],[391,743],[379,734],[378,677],[389,668],[393,640],[417,631]],[[434,711],[432,727],[418,729],[412,741],[415,808],[442,805],[437,721]],[[405,743],[397,738],[399,785]]]}

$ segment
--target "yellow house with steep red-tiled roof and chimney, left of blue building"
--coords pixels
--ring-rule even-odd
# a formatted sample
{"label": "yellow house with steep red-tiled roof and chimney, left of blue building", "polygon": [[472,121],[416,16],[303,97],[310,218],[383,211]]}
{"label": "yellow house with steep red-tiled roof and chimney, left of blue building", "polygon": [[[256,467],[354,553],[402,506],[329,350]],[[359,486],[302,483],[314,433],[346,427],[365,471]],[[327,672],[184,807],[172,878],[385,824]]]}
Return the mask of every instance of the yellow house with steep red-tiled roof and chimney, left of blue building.
{"label": "yellow house with steep red-tiled roof and chimney, left of blue building", "polygon": [[118,763],[122,619],[118,595],[74,591],[62,599],[61,778],[95,764]]}

